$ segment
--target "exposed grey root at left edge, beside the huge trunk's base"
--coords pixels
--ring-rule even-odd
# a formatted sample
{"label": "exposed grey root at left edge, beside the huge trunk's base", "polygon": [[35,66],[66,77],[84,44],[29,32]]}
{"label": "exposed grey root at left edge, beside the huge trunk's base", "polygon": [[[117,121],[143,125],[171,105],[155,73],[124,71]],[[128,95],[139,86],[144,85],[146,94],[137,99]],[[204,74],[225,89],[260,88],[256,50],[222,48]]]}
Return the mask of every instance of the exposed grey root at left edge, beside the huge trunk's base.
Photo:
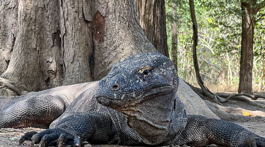
{"label": "exposed grey root at left edge, beside the huge trunk's base", "polygon": [[28,91],[25,91],[24,89],[21,88],[21,86],[19,86],[18,84],[6,80],[4,78],[0,78],[0,88],[8,88],[11,91],[14,91],[15,93],[17,93],[17,95],[23,95],[28,93]]}

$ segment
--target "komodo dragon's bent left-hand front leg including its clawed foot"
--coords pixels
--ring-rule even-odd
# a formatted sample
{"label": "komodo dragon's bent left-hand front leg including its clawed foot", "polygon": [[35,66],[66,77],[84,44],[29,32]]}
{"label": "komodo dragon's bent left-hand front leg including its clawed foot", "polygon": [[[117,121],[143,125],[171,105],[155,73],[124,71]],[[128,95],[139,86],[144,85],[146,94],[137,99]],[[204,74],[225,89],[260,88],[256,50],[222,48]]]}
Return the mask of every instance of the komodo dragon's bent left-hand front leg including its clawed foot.
{"label": "komodo dragon's bent left-hand front leg including its clawed foot", "polygon": [[103,112],[73,114],[63,118],[52,129],[40,133],[28,132],[19,143],[32,141],[30,146],[80,146],[83,141],[90,143],[111,143],[115,134],[112,121]]}

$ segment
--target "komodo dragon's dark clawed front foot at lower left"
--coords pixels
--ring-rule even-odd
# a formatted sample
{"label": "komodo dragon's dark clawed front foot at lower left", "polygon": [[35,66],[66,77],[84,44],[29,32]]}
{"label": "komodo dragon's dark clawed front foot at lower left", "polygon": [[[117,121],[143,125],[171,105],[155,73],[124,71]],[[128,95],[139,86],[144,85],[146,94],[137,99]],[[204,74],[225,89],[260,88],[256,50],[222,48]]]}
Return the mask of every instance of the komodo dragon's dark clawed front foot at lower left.
{"label": "komodo dragon's dark clawed front foot at lower left", "polygon": [[30,147],[33,147],[34,144],[39,144],[39,147],[56,146],[57,144],[59,147],[80,146],[81,142],[80,137],[67,133],[67,131],[60,128],[47,129],[40,133],[34,131],[27,132],[21,137],[19,144],[26,140],[32,141],[29,145]]}

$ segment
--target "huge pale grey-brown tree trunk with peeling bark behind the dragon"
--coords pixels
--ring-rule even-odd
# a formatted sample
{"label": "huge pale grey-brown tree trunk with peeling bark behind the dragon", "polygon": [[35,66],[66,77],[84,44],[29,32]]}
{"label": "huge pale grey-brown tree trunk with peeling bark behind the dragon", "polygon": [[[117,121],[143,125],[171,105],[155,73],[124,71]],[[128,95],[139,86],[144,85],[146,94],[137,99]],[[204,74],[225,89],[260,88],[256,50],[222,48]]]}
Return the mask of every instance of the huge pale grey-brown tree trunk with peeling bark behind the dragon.
{"label": "huge pale grey-brown tree trunk with peeling bark behind the dragon", "polygon": [[100,80],[116,62],[156,51],[132,0],[4,0],[0,8],[2,96]]}

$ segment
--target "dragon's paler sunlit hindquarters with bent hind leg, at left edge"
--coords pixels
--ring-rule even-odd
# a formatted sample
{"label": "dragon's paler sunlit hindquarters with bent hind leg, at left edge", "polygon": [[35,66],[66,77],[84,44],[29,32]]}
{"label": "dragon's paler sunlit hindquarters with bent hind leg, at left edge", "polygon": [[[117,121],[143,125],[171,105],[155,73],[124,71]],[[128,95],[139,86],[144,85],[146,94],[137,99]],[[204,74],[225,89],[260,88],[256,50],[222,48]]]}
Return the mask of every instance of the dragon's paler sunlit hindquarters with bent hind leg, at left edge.
{"label": "dragon's paler sunlit hindquarters with bent hind leg, at left edge", "polygon": [[96,83],[61,86],[12,98],[0,97],[0,127],[49,128],[80,93]]}

